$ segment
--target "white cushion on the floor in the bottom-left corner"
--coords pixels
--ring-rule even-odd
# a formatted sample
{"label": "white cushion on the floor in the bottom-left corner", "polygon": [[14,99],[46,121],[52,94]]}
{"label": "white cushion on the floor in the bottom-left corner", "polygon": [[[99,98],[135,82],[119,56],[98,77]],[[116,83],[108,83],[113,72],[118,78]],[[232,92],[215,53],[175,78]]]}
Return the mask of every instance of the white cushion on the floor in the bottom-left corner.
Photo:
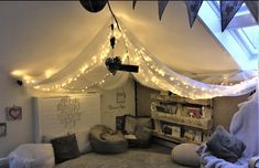
{"label": "white cushion on the floor in the bottom-left corner", "polygon": [[10,168],[53,168],[55,165],[51,144],[20,145],[8,159]]}

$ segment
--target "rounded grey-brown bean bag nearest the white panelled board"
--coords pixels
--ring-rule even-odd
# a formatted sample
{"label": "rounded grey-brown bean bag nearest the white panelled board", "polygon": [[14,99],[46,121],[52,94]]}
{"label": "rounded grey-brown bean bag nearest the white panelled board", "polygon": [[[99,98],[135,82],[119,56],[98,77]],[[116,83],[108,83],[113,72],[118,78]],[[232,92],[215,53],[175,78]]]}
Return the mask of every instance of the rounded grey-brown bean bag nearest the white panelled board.
{"label": "rounded grey-brown bean bag nearest the white panelled board", "polygon": [[93,150],[101,154],[120,154],[128,149],[128,141],[120,132],[96,125],[89,132]]}

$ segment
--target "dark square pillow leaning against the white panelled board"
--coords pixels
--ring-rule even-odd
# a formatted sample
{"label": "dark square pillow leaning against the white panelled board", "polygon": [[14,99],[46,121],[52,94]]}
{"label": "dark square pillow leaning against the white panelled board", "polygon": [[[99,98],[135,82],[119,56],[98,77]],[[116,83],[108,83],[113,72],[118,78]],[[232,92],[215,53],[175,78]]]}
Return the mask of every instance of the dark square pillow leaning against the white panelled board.
{"label": "dark square pillow leaning against the white panelled board", "polygon": [[77,158],[80,155],[75,134],[52,139],[51,143],[56,164]]}

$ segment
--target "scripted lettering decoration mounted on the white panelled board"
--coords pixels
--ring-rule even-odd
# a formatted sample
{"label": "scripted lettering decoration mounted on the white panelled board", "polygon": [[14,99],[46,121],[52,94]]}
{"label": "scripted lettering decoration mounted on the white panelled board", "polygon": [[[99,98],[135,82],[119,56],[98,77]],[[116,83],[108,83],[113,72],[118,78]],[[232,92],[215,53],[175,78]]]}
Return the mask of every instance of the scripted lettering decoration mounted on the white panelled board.
{"label": "scripted lettering decoration mounted on the white panelled board", "polygon": [[57,111],[61,112],[58,118],[65,128],[73,128],[80,120],[82,113],[79,112],[79,107],[78,98],[64,97],[57,104]]}

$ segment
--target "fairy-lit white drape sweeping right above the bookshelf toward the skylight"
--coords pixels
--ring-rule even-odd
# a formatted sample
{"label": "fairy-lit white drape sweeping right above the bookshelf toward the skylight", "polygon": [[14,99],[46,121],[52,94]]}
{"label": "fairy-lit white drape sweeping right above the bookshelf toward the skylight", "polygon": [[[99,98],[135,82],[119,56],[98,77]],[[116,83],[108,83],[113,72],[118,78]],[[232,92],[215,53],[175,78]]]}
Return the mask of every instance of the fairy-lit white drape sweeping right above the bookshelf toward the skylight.
{"label": "fairy-lit white drape sweeping right above the bookshelf toward the skylight", "polygon": [[[255,90],[257,84],[257,73],[255,73],[253,77],[250,80],[241,81],[236,84],[230,83],[229,85],[224,85],[223,83],[220,85],[213,85],[194,81],[162,65],[152,54],[149,54],[144,48],[136,45],[136,42],[132,43],[132,41],[128,40],[127,36],[130,35],[122,36],[129,48],[134,48],[133,51],[137,56],[134,56],[133,61],[137,63],[142,59],[141,61],[145,65],[144,75],[143,73],[133,74],[137,80],[144,77],[144,80],[139,80],[143,85],[150,85],[151,82],[154,88],[171,91],[174,94],[193,99],[204,99],[224,95],[240,95],[244,94],[244,92]],[[140,63],[140,65],[142,64]],[[143,67],[140,70],[142,71]],[[152,77],[147,78],[147,76]],[[226,80],[227,76],[225,75],[224,77]]]}

